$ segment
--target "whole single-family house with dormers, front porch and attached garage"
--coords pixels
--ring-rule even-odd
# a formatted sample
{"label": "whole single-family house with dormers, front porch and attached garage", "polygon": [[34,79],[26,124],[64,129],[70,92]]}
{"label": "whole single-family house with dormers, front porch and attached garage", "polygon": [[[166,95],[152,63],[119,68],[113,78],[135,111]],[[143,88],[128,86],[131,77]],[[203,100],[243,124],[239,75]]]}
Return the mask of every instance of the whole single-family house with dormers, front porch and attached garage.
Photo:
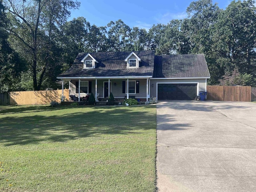
{"label": "whole single-family house with dormers, front porch and attached garage", "polygon": [[[193,100],[206,91],[210,73],[204,54],[155,56],[154,50],[79,53],[57,78],[69,81],[70,95],[93,93],[96,100],[136,98],[147,101]],[[63,86],[62,86],[63,87]]]}

